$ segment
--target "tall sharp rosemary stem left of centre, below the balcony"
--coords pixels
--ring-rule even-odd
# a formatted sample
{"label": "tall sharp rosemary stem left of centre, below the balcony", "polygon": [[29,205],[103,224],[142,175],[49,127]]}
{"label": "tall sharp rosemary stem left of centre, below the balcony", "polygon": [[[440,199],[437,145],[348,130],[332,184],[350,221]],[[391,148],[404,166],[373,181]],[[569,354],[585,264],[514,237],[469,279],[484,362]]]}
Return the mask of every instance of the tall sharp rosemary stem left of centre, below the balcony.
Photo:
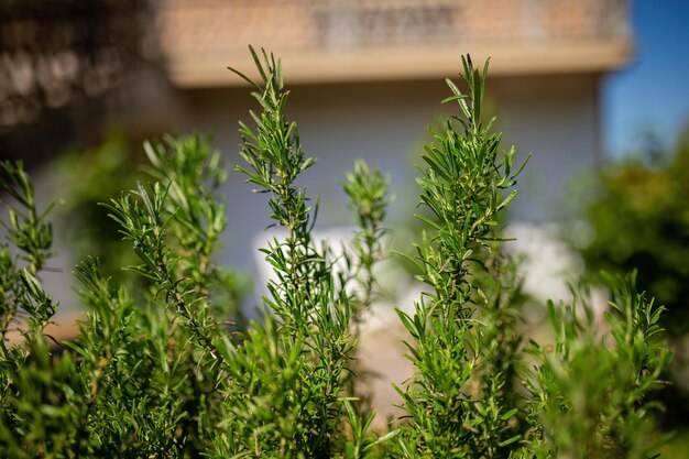
{"label": "tall sharp rosemary stem left of centre, below the balcony", "polygon": [[237,170],[255,192],[269,195],[271,218],[287,237],[261,249],[276,275],[263,298],[275,318],[254,324],[243,348],[228,352],[232,415],[225,420],[228,435],[218,457],[242,451],[331,457],[343,440],[339,397],[353,346],[351,303],[332,274],[328,249],[311,238],[317,209],[296,179],[314,160],[305,156],[296,124],[285,119],[288,92],[278,63],[251,52],[262,81],[233,72],[254,88],[262,111],[251,112],[255,128],[240,124],[240,154],[248,166]]}

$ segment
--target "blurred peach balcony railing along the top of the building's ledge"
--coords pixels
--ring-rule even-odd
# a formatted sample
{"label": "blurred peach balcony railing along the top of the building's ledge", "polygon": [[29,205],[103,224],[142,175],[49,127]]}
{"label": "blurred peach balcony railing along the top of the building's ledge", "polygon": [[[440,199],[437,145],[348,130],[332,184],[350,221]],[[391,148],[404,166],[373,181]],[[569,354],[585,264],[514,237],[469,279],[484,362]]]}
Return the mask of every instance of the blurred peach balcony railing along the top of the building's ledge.
{"label": "blurred peach balcony railing along the top of the building's ledge", "polygon": [[342,50],[626,37],[625,0],[166,0],[167,50]]}

